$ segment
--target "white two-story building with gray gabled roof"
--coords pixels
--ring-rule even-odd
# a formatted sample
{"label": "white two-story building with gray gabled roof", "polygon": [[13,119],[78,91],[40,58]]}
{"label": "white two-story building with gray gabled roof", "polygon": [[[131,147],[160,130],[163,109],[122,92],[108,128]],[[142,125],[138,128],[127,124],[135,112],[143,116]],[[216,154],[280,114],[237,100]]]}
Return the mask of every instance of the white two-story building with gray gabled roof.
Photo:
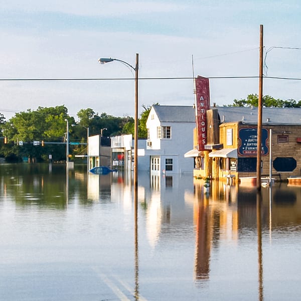
{"label": "white two-story building with gray gabled roof", "polygon": [[146,127],[145,156],[149,156],[150,172],[166,175],[192,173],[194,159],[184,158],[184,154],[194,146],[194,107],[153,105]]}

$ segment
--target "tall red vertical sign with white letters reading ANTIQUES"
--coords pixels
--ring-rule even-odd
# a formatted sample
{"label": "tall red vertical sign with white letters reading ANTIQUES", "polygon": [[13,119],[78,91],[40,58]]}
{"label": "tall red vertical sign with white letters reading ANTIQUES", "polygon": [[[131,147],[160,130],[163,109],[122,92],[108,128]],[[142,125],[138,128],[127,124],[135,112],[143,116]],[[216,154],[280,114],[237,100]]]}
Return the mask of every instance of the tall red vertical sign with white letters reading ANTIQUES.
{"label": "tall red vertical sign with white letters reading ANTIQUES", "polygon": [[207,144],[207,110],[210,109],[209,79],[198,76],[195,80],[196,121],[198,133],[198,150],[205,150]]}

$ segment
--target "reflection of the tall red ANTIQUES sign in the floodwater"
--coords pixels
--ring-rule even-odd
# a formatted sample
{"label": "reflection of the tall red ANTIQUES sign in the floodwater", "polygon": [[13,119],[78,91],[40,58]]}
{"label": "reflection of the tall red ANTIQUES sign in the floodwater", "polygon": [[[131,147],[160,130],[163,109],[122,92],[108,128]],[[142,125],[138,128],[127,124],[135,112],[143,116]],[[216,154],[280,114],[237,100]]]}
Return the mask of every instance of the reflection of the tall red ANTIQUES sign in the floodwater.
{"label": "reflection of the tall red ANTIQUES sign in the floodwater", "polygon": [[209,279],[210,271],[210,229],[211,219],[209,216],[209,198],[203,189],[197,193],[197,229],[196,229],[196,259],[195,277],[196,281]]}

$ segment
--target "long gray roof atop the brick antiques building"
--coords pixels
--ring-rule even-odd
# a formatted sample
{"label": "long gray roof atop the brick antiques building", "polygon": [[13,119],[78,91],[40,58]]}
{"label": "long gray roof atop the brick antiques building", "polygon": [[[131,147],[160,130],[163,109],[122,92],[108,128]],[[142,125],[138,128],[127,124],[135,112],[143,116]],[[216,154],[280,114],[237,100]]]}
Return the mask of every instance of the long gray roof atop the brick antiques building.
{"label": "long gray roof atop the brick antiques building", "polygon": [[[257,107],[211,107],[218,109],[221,122],[257,124]],[[262,124],[300,124],[301,108],[262,108]]]}

